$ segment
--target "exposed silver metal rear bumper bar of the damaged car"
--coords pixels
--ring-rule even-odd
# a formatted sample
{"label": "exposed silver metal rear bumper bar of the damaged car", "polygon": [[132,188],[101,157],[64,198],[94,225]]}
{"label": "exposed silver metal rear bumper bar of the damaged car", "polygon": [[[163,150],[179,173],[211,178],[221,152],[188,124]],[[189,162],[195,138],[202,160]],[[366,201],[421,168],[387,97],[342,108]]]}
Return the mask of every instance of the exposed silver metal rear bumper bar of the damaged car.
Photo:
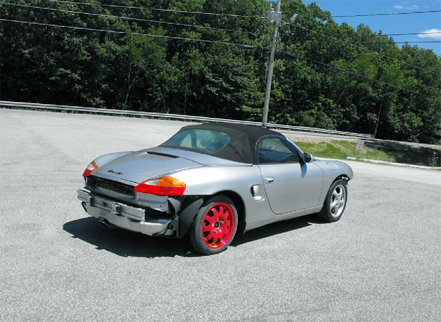
{"label": "exposed silver metal rear bumper bar of the damaged car", "polygon": [[171,236],[172,218],[146,217],[145,209],[101,197],[89,190],[77,190],[84,210],[91,216],[112,225],[150,236]]}

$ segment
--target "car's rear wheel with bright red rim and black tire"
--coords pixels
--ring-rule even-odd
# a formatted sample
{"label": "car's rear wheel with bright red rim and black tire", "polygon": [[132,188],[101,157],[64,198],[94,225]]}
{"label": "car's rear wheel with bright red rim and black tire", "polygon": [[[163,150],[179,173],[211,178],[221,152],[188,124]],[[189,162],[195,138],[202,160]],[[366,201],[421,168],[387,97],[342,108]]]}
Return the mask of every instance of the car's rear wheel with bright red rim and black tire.
{"label": "car's rear wheel with bright red rim and black tire", "polygon": [[190,241],[201,254],[218,254],[233,241],[237,224],[238,214],[232,199],[216,195],[199,209],[189,231]]}

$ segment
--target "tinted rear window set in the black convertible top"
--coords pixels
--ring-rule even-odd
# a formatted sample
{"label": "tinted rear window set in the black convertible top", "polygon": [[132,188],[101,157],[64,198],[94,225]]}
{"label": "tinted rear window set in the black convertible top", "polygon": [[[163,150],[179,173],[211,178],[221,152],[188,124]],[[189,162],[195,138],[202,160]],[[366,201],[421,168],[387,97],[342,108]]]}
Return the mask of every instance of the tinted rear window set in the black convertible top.
{"label": "tinted rear window set in the black convertible top", "polygon": [[225,148],[229,139],[224,132],[192,129],[178,132],[162,145],[216,153]]}

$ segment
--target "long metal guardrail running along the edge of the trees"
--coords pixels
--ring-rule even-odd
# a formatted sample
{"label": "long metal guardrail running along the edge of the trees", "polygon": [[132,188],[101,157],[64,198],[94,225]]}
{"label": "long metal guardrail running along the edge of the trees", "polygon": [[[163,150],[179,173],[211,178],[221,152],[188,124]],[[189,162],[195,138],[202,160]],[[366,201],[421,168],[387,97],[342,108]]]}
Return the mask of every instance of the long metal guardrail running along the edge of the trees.
{"label": "long metal guardrail running along the edge of the trees", "polygon": [[[40,103],[25,103],[25,102],[11,102],[11,101],[0,101],[1,106],[19,107],[19,108],[36,108],[42,110],[70,110],[76,112],[92,112],[100,114],[121,114],[121,115],[134,115],[134,116],[145,116],[145,117],[156,117],[162,119],[182,119],[186,121],[205,121],[205,122],[219,122],[219,123],[238,123],[246,125],[261,125],[260,122],[253,121],[240,121],[232,119],[217,119],[213,117],[196,117],[190,115],[181,114],[167,114],[167,113],[156,113],[156,112],[138,112],[130,110],[108,110],[105,108],[85,108],[83,106],[68,106],[68,105],[54,105],[54,104],[40,104]],[[268,128],[280,129],[280,130],[291,130],[299,132],[311,132],[320,134],[333,134],[340,135],[344,137],[360,137],[368,138],[372,137],[372,134],[360,134],[352,132],[343,132],[335,130],[325,130],[321,128],[308,128],[306,126],[294,126],[294,125],[283,125],[268,123]]]}

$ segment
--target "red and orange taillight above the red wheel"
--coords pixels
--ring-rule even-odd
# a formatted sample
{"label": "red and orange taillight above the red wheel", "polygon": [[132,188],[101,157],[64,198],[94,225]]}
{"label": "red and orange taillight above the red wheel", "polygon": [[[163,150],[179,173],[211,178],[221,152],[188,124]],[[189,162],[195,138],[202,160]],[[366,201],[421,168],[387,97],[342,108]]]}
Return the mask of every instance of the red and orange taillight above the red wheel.
{"label": "red and orange taillight above the red wheel", "polygon": [[136,192],[145,194],[158,194],[160,196],[182,196],[185,191],[185,183],[172,177],[146,180],[136,185]]}

